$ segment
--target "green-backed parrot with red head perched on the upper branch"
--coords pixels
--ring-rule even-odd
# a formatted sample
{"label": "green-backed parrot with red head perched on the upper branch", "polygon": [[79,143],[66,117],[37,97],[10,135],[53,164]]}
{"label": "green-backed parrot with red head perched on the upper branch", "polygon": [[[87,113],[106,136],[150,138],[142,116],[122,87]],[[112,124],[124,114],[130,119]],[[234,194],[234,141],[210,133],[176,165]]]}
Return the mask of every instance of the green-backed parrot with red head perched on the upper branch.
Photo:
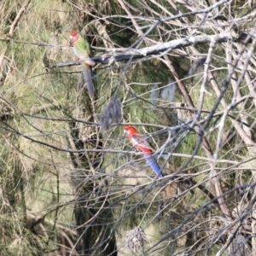
{"label": "green-backed parrot with red head perched on the upper branch", "polygon": [[84,74],[84,82],[87,84],[88,93],[90,96],[94,95],[94,85],[92,83],[92,69],[95,61],[90,59],[90,44],[78,32],[70,32],[69,37],[73,44],[73,52],[78,57],[81,63],[82,71]]}

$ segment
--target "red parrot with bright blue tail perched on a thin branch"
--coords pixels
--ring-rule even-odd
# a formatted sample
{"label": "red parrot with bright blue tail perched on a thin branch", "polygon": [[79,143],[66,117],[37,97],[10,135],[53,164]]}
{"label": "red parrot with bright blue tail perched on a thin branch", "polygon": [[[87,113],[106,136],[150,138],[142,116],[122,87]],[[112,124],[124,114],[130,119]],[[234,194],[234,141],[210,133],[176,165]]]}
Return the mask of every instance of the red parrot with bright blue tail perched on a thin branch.
{"label": "red parrot with bright blue tail perched on a thin branch", "polygon": [[130,125],[125,126],[124,131],[127,133],[128,139],[132,143],[133,147],[143,151],[144,157],[146,158],[149,166],[151,166],[156,175],[158,177],[164,177],[163,173],[161,172],[160,166],[152,156],[154,148],[152,148],[150,144],[145,140],[144,135]]}

